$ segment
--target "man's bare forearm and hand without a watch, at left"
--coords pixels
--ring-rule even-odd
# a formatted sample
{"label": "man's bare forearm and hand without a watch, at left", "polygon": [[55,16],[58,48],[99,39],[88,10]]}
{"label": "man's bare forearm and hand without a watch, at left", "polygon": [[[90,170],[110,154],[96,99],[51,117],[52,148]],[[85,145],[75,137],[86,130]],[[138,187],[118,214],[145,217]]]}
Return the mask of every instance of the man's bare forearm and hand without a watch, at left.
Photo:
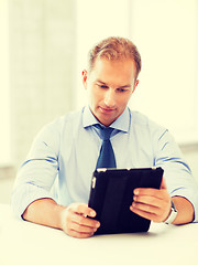
{"label": "man's bare forearm and hand without a watch, at left", "polygon": [[40,199],[32,202],[22,218],[26,221],[63,230],[66,234],[85,239],[91,236],[99,227],[94,218],[96,212],[85,203],[73,203],[65,208],[52,199]]}

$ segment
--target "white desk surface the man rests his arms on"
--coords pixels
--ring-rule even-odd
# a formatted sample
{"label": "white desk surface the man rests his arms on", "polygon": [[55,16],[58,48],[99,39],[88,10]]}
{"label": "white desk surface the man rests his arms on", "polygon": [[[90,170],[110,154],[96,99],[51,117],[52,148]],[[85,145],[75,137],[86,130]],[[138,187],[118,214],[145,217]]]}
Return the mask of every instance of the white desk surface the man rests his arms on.
{"label": "white desk surface the man rests his arms on", "polygon": [[198,224],[152,224],[148,233],[86,240],[13,218],[0,204],[1,265],[183,265],[198,264]]}

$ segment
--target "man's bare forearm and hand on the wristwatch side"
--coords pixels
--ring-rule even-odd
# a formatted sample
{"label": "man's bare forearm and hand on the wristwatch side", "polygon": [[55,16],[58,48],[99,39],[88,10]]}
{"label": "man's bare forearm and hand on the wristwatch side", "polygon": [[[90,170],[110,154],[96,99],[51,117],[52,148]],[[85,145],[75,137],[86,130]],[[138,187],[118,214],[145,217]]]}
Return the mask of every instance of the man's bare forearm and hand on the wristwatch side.
{"label": "man's bare forearm and hand on the wristwatch side", "polygon": [[170,200],[178,211],[174,224],[185,224],[194,221],[193,204],[183,197],[170,198],[164,178],[160,190],[135,189],[131,211],[154,222],[164,222],[168,218],[172,208]]}

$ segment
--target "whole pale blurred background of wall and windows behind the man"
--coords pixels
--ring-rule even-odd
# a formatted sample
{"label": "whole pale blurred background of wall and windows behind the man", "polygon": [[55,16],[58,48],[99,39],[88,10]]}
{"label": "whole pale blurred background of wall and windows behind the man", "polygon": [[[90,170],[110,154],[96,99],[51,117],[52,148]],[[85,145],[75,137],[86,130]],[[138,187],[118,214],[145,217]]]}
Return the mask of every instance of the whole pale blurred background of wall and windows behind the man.
{"label": "whole pale blurred background of wall and windows behind the man", "polygon": [[198,181],[197,0],[0,0],[0,203],[46,123],[86,104],[96,42],[131,39],[142,55],[130,107],[167,127]]}

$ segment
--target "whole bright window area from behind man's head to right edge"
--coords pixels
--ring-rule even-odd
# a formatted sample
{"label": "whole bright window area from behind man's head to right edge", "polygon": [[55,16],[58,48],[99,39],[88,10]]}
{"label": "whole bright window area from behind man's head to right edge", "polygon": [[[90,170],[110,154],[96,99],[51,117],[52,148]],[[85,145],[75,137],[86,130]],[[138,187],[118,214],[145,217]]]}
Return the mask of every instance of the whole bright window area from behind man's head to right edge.
{"label": "whole bright window area from behind man's head to right edge", "polygon": [[198,141],[198,4],[196,0],[77,1],[77,98],[80,71],[95,42],[130,38],[142,55],[130,107],[167,127],[179,144]]}

